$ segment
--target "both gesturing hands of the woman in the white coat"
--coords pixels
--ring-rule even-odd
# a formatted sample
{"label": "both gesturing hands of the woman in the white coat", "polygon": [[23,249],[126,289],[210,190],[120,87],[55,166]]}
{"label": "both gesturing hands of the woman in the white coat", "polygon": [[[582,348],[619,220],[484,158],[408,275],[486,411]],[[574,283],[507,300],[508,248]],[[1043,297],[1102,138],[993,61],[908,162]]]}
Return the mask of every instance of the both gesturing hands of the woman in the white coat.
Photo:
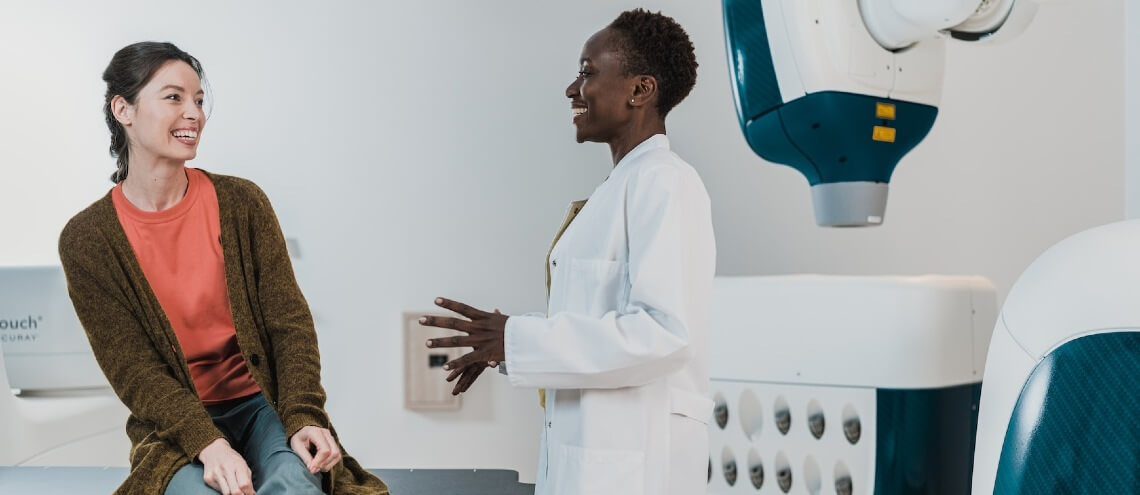
{"label": "both gesturing hands of the woman in the white coat", "polygon": [[441,316],[423,316],[420,318],[420,324],[424,326],[451,328],[466,333],[466,335],[427,339],[427,347],[474,348],[473,351],[443,365],[443,370],[451,372],[447,376],[447,381],[450,382],[456,378],[459,379],[451,390],[451,395],[459,395],[475,382],[475,379],[482,374],[483,370],[488,366],[497,366],[506,358],[503,335],[506,328],[507,316],[499,313],[498,309],[495,313],[481,311],[462,302],[443,298],[435,298],[435,306],[450,309],[469,318],[462,319]]}

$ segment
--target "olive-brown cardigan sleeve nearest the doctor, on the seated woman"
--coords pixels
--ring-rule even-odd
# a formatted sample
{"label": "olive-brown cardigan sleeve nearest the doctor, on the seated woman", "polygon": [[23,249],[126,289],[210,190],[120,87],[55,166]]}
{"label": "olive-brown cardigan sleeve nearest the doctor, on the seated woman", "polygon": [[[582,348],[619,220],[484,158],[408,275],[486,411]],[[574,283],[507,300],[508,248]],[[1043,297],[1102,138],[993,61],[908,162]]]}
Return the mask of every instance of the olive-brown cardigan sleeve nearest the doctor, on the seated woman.
{"label": "olive-brown cardigan sleeve nearest the doctor, on the seated woman", "polygon": [[277,216],[261,188],[251,186],[252,249],[256,291],[276,365],[277,408],[286,438],[301,428],[328,428],[320,351],[312,314],[293,276]]}

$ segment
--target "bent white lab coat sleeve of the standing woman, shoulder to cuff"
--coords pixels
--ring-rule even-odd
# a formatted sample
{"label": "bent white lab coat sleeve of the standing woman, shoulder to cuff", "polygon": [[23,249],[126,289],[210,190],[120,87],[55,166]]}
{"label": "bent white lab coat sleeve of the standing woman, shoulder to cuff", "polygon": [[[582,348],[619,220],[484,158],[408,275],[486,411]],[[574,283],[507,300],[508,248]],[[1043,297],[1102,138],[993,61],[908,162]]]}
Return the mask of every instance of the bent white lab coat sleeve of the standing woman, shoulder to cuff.
{"label": "bent white lab coat sleeve of the standing woman, shoulder to cuff", "polygon": [[646,168],[627,184],[627,305],[600,317],[563,311],[507,319],[504,347],[512,386],[636,387],[675,372],[690,358],[685,284],[694,269],[692,258],[706,254],[691,244],[703,232],[693,222],[702,221],[699,212],[707,209],[692,204],[698,195],[686,180],[695,177],[683,172]]}

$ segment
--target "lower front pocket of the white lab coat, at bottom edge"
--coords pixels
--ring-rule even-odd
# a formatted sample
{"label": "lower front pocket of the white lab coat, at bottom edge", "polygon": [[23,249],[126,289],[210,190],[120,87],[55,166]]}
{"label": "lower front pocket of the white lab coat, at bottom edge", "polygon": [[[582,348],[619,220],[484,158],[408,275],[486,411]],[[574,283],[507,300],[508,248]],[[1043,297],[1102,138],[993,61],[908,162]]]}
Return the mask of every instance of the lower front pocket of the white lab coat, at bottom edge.
{"label": "lower front pocket of the white lab coat, at bottom edge", "polygon": [[645,454],[563,445],[554,495],[642,495]]}

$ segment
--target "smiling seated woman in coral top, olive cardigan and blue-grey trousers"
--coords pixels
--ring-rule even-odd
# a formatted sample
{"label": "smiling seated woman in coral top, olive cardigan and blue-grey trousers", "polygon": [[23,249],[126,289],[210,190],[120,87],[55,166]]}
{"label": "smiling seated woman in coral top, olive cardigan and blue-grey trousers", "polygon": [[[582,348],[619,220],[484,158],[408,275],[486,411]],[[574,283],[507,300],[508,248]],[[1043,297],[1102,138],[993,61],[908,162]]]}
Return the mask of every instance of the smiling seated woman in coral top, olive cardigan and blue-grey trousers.
{"label": "smiling seated woman in coral top, olive cardigan and blue-grey trousers", "polygon": [[186,167],[202,66],[171,43],[103,74],[115,186],[59,236],[95,357],[130,409],[117,494],[386,494],[340,447],[277,218],[253,182]]}

